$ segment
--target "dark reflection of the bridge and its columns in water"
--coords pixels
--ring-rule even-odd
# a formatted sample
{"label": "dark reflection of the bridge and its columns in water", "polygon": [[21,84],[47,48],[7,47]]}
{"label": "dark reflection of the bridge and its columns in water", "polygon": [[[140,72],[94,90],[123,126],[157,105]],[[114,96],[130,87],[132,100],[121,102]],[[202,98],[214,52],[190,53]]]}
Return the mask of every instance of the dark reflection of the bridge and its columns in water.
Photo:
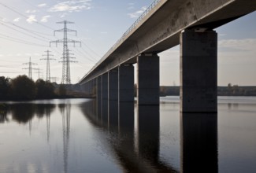
{"label": "dark reflection of the bridge and its columns in water", "polygon": [[[119,108],[117,102],[112,104],[109,112],[98,109],[95,100],[83,103],[81,109],[91,124],[111,135],[106,140],[124,172],[178,172],[159,157],[159,106],[138,105],[135,128],[134,104]],[[217,114],[180,117],[180,171],[217,172]]]}

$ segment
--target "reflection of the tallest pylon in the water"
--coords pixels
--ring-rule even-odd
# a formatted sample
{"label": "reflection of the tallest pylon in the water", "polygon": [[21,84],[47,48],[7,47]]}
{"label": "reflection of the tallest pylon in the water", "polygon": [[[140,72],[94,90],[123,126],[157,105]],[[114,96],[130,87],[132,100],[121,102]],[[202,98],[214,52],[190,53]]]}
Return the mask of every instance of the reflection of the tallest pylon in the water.
{"label": "reflection of the tallest pylon in the water", "polygon": [[69,157],[69,132],[70,132],[70,107],[68,103],[61,107],[62,116],[62,132],[63,132],[63,160],[64,172],[68,172],[68,157]]}

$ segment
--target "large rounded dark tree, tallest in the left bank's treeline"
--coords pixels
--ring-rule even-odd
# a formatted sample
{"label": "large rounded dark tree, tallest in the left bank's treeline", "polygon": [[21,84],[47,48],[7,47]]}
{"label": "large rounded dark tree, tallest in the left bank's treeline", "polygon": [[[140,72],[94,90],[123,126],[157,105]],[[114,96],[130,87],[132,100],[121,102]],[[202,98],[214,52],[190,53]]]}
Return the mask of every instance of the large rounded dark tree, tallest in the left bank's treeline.
{"label": "large rounded dark tree, tallest in the left bank's treeline", "polygon": [[32,100],[35,99],[36,87],[32,79],[27,75],[18,75],[17,78],[11,80],[11,90],[13,99],[16,100]]}

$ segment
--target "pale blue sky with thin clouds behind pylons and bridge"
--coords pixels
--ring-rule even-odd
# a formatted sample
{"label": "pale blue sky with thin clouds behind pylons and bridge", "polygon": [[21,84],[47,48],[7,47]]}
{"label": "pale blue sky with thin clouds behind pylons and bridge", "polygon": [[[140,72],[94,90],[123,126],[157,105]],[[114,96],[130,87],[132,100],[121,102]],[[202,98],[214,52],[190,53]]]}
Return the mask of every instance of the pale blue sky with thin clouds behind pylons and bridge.
{"label": "pale blue sky with thin clouds behind pylons and bridge", "polygon": [[[63,28],[56,24],[69,20],[69,39],[82,42],[69,50],[71,82],[77,83],[135,22],[153,0],[0,0],[0,76],[14,78],[28,75],[32,58],[32,78],[46,79],[46,50],[56,59],[50,61],[50,75],[61,83],[62,45],[51,44],[63,38]],[[218,86],[228,83],[256,86],[256,12],[217,28]],[[160,85],[180,85],[180,47],[158,54],[160,57]]]}

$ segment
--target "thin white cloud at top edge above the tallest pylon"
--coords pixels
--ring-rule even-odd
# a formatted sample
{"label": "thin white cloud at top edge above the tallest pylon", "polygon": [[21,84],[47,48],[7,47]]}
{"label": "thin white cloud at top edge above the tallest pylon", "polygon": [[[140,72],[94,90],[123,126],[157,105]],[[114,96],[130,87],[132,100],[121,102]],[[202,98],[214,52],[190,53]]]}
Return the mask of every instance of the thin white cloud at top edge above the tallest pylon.
{"label": "thin white cloud at top edge above the tallest pylon", "polygon": [[91,9],[91,0],[59,2],[48,9],[49,12],[80,12]]}

